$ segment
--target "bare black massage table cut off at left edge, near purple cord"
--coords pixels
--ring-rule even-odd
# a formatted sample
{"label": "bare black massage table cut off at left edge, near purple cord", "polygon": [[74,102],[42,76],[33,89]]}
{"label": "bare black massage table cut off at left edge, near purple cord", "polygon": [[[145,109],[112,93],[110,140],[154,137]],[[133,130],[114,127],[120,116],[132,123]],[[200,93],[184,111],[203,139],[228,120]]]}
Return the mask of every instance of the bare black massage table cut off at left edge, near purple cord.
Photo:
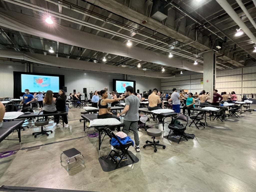
{"label": "bare black massage table cut off at left edge, near purple cord", "polygon": [[21,142],[20,138],[20,126],[24,121],[7,121],[3,122],[3,126],[0,128],[0,142],[2,142],[9,134],[11,134],[15,129],[18,132],[19,139],[5,139],[5,140],[19,140],[19,145]]}

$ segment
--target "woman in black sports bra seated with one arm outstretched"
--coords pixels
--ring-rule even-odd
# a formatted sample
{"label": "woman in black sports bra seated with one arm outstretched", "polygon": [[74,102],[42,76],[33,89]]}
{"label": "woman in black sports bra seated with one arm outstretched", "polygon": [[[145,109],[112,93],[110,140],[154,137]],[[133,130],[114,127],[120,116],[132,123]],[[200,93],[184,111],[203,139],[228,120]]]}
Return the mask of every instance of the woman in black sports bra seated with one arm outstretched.
{"label": "woman in black sports bra seated with one arm outstretched", "polygon": [[108,103],[120,101],[124,99],[124,97],[117,98],[117,99],[106,99],[108,98],[108,92],[106,90],[101,90],[100,95],[101,95],[101,99],[98,102],[98,106],[99,106],[98,119],[115,118],[120,121],[120,118],[117,116],[114,116],[111,112],[108,112],[107,108],[108,108]]}

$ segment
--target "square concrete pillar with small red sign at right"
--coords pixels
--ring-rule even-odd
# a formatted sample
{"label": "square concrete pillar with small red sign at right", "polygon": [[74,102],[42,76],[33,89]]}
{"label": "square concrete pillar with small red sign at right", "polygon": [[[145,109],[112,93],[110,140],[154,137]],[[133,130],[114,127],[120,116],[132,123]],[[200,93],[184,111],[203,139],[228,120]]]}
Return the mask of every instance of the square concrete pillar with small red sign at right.
{"label": "square concrete pillar with small red sign at right", "polygon": [[204,53],[204,90],[211,92],[215,89],[216,58],[214,50]]}

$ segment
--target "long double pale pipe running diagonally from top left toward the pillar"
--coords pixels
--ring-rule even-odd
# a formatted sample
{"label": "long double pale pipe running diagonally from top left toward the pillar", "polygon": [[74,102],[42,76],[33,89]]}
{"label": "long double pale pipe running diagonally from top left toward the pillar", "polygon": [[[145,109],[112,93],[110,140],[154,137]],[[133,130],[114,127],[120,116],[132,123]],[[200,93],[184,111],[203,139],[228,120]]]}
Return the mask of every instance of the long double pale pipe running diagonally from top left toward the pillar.
{"label": "long double pale pipe running diagonally from top left toward the pillar", "polygon": [[26,7],[26,8],[29,8],[29,9],[32,9],[32,10],[35,10],[35,11],[38,11],[38,12],[41,12],[41,13],[49,12],[49,13],[51,13],[52,16],[55,16],[55,17],[57,17],[57,18],[61,18],[61,19],[70,21],[70,22],[72,22],[72,23],[77,23],[77,24],[79,24],[79,25],[83,25],[83,26],[87,26],[87,27],[90,27],[90,28],[93,28],[93,29],[97,29],[97,30],[103,31],[103,32],[105,32],[105,33],[109,33],[109,34],[112,34],[112,35],[115,35],[115,36],[118,36],[118,37],[121,37],[121,38],[130,39],[130,40],[132,40],[132,41],[134,41],[134,42],[138,42],[138,43],[143,44],[143,45],[147,45],[147,46],[150,46],[150,47],[154,47],[154,48],[156,48],[156,49],[159,49],[159,50],[163,50],[163,51],[166,51],[166,52],[170,52],[170,53],[173,53],[173,54],[175,54],[175,55],[179,55],[179,56],[182,56],[182,57],[191,59],[191,60],[197,60],[198,62],[201,62],[201,63],[204,62],[204,61],[202,61],[202,60],[195,59],[194,57],[190,57],[190,56],[187,56],[187,55],[184,55],[184,54],[180,54],[180,53],[178,53],[178,52],[175,52],[175,51],[172,51],[172,50],[169,50],[169,49],[166,49],[166,48],[163,48],[163,47],[160,47],[160,46],[157,46],[157,45],[148,43],[148,42],[145,42],[145,41],[143,41],[143,40],[136,39],[136,38],[134,38],[134,37],[130,37],[130,36],[127,36],[127,35],[123,35],[123,34],[118,33],[118,32],[116,32],[116,31],[112,31],[112,30],[110,30],[110,29],[106,29],[106,28],[104,28],[104,27],[100,27],[100,26],[97,26],[97,25],[94,25],[94,24],[85,22],[85,21],[83,21],[83,20],[79,20],[79,19],[76,19],[76,18],[67,16],[67,15],[64,15],[64,14],[62,14],[62,13],[55,12],[55,11],[46,9],[46,8],[44,8],[44,7],[40,7],[40,6],[31,4],[31,3],[27,3],[27,2],[24,2],[24,1],[21,1],[21,0],[3,0],[3,1],[6,1],[6,2],[9,2],[9,3],[15,4],[15,5],[19,5],[19,6],[22,6],[22,7]]}

